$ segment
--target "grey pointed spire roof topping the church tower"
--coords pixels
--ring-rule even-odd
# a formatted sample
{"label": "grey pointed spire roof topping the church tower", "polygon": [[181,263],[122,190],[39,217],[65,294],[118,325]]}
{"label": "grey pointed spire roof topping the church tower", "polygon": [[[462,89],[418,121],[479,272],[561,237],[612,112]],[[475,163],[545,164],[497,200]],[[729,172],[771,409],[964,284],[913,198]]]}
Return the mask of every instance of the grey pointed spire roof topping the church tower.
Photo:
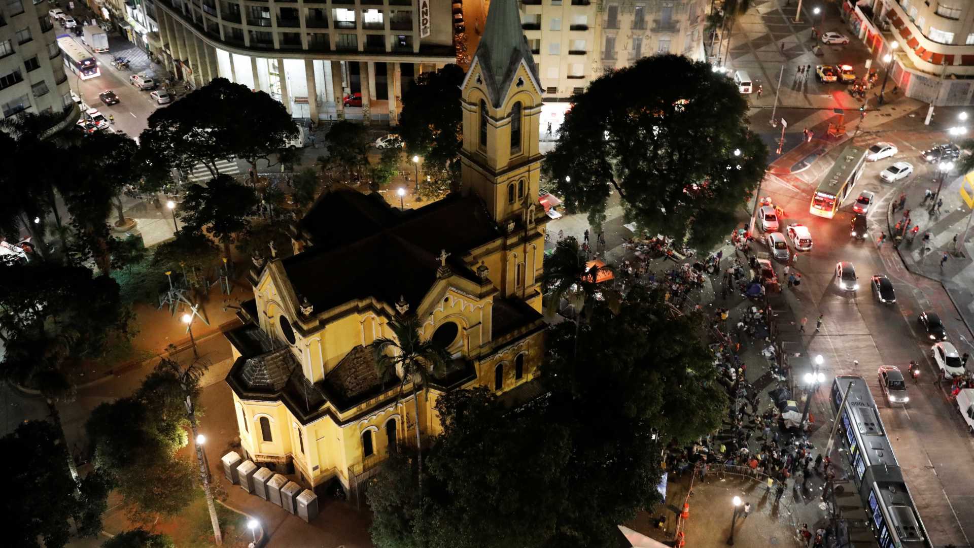
{"label": "grey pointed spire roof topping the church tower", "polygon": [[501,106],[522,60],[535,81],[540,81],[528,39],[521,29],[516,0],[494,0],[490,3],[484,34],[480,37],[473,58],[480,59],[484,85],[490,91],[496,107]]}

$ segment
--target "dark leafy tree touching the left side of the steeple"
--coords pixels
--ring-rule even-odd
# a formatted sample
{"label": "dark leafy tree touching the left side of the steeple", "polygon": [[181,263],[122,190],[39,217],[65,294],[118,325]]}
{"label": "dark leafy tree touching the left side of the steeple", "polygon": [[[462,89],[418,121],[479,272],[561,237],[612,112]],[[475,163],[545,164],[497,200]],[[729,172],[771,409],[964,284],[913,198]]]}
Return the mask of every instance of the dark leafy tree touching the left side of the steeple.
{"label": "dark leafy tree touching the left side of the steeple", "polygon": [[447,64],[435,72],[424,72],[402,95],[399,136],[410,156],[423,157],[430,170],[445,170],[459,176],[463,124],[460,85],[464,69]]}

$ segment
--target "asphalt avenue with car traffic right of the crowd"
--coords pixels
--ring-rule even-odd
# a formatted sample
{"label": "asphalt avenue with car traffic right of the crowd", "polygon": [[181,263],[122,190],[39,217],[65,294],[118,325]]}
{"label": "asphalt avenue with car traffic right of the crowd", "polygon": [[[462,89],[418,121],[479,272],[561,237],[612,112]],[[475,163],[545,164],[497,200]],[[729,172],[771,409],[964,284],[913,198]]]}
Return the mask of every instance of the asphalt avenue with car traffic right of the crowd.
{"label": "asphalt avenue with car traffic right of the crowd", "polygon": [[[881,139],[896,144],[900,153],[868,164],[844,201],[841,213],[833,219],[808,213],[816,181],[788,177],[766,184],[762,194],[770,195],[784,207],[782,226],[800,222],[812,233],[814,249],[800,255],[797,262],[803,283],[794,291],[784,290],[797,296],[792,304],[808,318],[809,353],[825,358],[824,372],[829,381],[836,374],[858,374],[869,382],[896,458],[934,543],[970,545],[969,539],[974,538],[974,439],[954,401],[947,397],[949,383],[933,382],[937,370],[930,358],[929,343],[918,333],[917,315],[927,309],[938,312],[950,340],[961,352],[974,350],[968,342],[972,340],[971,333],[938,282],[908,272],[888,239],[881,247],[877,244],[880,231],[887,230],[887,208],[899,197],[900,188],[915,180],[918,184],[934,184],[930,182],[932,167],[921,162],[918,153],[929,144],[942,141],[942,137],[889,132],[881,134]],[[878,140],[878,135],[867,135],[857,137],[855,142],[871,144]],[[895,184],[880,182],[880,171],[898,160],[914,164],[915,175]],[[849,234],[851,204],[864,189],[876,192],[879,202],[868,215],[870,238],[865,241]],[[913,206],[916,204],[907,204],[908,208]],[[843,292],[836,286],[835,267],[841,260],[855,265],[860,286],[857,292]],[[779,263],[779,268],[782,266]],[[895,304],[881,304],[872,294],[869,282],[876,273],[886,274],[893,282]],[[813,333],[819,314],[825,316],[823,328],[820,333]],[[922,365],[921,379],[917,384],[909,381],[911,401],[906,408],[890,407],[880,390],[878,369],[880,365],[893,365],[906,372],[911,360]],[[855,361],[858,365],[854,365]],[[825,388],[819,390],[820,396],[824,393]],[[831,411],[824,409],[826,405],[824,397],[816,402],[822,416],[831,416]]]}

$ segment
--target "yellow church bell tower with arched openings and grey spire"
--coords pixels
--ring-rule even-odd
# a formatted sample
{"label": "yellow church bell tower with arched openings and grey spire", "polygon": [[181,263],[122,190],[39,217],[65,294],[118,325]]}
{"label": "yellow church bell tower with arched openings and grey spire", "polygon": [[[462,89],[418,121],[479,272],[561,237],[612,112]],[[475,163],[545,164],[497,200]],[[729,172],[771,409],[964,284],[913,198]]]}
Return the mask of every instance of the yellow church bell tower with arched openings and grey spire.
{"label": "yellow church bell tower with arched openings and grey spire", "polygon": [[503,225],[537,206],[542,88],[517,0],[493,0],[461,85],[465,194],[479,195]]}

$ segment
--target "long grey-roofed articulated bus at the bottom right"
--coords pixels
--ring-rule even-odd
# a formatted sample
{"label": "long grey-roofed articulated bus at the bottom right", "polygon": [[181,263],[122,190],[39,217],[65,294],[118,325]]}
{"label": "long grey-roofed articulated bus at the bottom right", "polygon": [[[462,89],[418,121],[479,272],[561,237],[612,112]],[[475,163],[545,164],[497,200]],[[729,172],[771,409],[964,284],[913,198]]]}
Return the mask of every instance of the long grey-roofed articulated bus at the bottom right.
{"label": "long grey-roofed articulated bus at the bottom right", "polygon": [[838,437],[880,548],[932,548],[866,379],[837,376],[831,400],[833,411],[842,410]]}

